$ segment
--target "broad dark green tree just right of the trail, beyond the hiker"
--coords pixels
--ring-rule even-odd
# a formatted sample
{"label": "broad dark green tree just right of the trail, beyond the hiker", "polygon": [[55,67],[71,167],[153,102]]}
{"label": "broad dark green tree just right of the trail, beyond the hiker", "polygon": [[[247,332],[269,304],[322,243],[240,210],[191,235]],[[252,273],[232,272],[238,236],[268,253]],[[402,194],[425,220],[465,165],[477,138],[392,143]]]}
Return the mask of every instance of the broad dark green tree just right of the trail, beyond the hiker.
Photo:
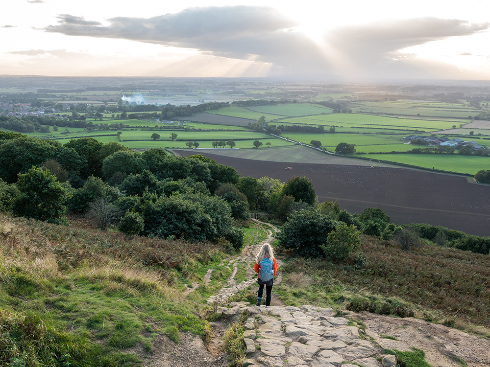
{"label": "broad dark green tree just right of the trail, beyond the hiker", "polygon": [[294,211],[281,231],[276,234],[279,247],[292,250],[295,255],[323,257],[321,245],[328,233],[339,223],[316,210]]}

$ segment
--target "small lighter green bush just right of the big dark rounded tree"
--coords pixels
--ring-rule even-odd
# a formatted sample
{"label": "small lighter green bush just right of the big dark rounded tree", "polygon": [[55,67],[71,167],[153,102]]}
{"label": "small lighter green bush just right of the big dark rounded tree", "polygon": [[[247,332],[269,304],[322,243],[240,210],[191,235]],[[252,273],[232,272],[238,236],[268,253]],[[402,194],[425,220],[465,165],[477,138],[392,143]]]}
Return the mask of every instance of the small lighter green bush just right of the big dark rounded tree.
{"label": "small lighter green bush just right of the big dark rounded tree", "polygon": [[361,240],[359,230],[356,226],[345,223],[339,224],[327,235],[326,244],[320,247],[325,252],[325,256],[335,261],[345,260],[351,252],[359,250]]}

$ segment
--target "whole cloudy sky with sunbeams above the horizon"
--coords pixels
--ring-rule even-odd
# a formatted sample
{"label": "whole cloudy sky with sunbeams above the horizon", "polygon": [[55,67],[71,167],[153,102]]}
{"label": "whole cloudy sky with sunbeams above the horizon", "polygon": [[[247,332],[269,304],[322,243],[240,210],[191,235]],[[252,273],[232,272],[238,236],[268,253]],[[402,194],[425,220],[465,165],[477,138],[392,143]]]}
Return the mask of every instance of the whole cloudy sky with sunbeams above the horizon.
{"label": "whole cloudy sky with sunbeams above the horizon", "polygon": [[0,75],[490,80],[489,14],[489,0],[15,0]]}

